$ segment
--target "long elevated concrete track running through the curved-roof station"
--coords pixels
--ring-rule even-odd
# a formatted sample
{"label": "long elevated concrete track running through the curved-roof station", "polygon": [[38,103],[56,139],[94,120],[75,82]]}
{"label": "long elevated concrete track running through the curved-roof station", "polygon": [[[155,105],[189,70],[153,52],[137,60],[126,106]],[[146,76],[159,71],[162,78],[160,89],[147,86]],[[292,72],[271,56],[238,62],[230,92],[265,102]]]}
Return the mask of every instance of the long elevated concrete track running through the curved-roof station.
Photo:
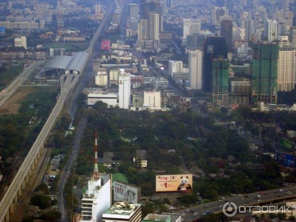
{"label": "long elevated concrete track running through the curved-roof station", "polygon": [[[100,36],[101,32],[105,28],[106,22],[110,19],[112,9],[113,4],[111,4],[107,12],[105,13],[105,16],[96,33],[94,34],[88,49],[85,51],[88,54],[87,56],[89,59],[91,58],[92,50],[97,38]],[[83,70],[84,68],[85,67],[83,67]],[[28,152],[18,172],[16,173],[13,181],[8,186],[3,198],[0,201],[0,222],[9,222],[9,216],[14,212],[14,208],[18,204],[18,199],[22,195],[23,189],[25,189],[26,185],[28,185],[28,182],[32,177],[32,171],[36,168],[37,161],[40,159],[41,154],[44,152],[44,144],[46,143],[50,132],[54,128],[56,120],[60,116],[63,106],[67,98],[69,97],[71,90],[76,85],[78,79],[78,74],[61,75],[61,92],[57,99],[57,103],[51,111],[48,119],[46,120],[36,141]]]}

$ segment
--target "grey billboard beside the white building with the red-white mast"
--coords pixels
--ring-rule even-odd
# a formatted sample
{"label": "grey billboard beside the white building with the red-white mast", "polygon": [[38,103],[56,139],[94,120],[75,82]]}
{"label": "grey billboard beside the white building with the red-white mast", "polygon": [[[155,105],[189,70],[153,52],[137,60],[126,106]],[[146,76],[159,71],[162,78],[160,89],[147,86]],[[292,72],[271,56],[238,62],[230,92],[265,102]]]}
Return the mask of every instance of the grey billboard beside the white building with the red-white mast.
{"label": "grey billboard beside the white building with the red-white mast", "polygon": [[140,203],[141,188],[131,185],[113,182],[113,199],[128,203]]}

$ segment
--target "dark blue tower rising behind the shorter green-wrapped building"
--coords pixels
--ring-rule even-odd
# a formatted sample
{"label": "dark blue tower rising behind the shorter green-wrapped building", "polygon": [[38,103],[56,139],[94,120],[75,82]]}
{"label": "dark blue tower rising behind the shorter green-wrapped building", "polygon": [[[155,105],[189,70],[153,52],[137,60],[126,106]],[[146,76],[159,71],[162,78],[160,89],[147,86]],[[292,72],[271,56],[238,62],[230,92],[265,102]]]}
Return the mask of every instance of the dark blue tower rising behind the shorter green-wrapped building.
{"label": "dark blue tower rising behind the shorter green-wrapped building", "polygon": [[212,91],[213,60],[222,57],[227,59],[228,50],[225,37],[208,37],[204,47],[203,90]]}

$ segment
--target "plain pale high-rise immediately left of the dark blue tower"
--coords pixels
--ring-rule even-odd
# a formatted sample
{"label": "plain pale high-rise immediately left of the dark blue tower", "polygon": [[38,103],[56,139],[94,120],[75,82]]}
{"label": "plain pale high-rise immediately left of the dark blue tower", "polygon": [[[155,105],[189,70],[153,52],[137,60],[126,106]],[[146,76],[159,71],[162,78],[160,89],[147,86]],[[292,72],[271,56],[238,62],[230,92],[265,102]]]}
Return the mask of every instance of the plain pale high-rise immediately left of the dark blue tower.
{"label": "plain pale high-rise immediately left of the dark blue tower", "polygon": [[189,51],[188,62],[190,87],[202,89],[202,51]]}

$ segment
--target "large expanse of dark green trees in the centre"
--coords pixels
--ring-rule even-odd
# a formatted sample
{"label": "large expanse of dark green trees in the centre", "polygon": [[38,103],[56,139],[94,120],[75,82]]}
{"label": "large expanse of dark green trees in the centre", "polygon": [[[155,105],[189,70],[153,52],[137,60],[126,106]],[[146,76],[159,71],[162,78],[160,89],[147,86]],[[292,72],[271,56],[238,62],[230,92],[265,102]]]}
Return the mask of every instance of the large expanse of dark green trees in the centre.
{"label": "large expanse of dark green trees in the centre", "polygon": [[[244,115],[244,110],[238,110],[233,118]],[[109,172],[125,174],[129,183],[141,186],[144,196],[154,193],[155,171],[178,174],[192,170],[193,193],[180,198],[185,204],[196,203],[196,193],[203,199],[217,200],[231,193],[272,189],[283,183],[274,159],[256,155],[236,131],[215,126],[211,117],[201,117],[190,109],[126,111],[98,102],[93,109],[84,109],[83,116],[87,127],[77,158],[78,174],[92,174],[97,131],[99,157],[111,151],[114,162],[119,163]],[[147,150],[147,169],[139,169],[133,162],[137,149]],[[100,167],[101,172],[106,171]]]}

